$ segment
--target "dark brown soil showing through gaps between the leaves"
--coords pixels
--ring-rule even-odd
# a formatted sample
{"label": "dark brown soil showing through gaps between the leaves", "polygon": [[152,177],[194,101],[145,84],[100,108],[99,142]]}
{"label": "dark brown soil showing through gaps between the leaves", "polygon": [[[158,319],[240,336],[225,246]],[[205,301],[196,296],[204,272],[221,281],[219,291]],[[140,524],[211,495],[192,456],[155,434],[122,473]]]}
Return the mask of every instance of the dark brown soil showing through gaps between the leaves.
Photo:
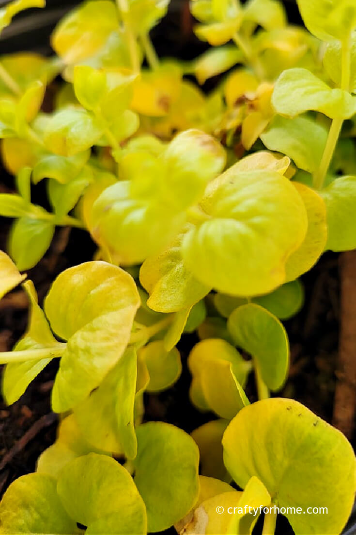
{"label": "dark brown soil showing through gaps between the leaves", "polygon": [[[6,34],[6,49],[2,47],[0,52],[18,49],[48,52],[48,35],[57,20],[53,13],[58,11],[59,7],[64,11],[71,4],[75,2],[50,1],[50,16],[47,22],[39,30],[37,28],[36,33],[27,25],[24,42],[22,34],[20,39],[15,39],[13,34]],[[286,2],[286,5],[290,20],[298,24],[300,19],[295,3]],[[21,17],[19,24],[20,22],[23,27]],[[197,41],[192,34],[192,21],[184,0],[173,2],[173,9],[167,19],[154,30],[153,37],[160,56],[191,59],[206,48],[205,44]],[[3,172],[0,191],[12,187],[12,179]],[[45,205],[45,194],[41,185],[34,190],[34,196],[36,202]],[[0,218],[0,249],[6,249],[9,228],[10,221]],[[58,273],[70,266],[91,260],[94,250],[88,233],[72,230],[69,234],[65,229],[58,230],[48,253],[28,272],[29,278],[36,286],[39,302],[42,302]],[[338,255],[323,255],[318,264],[303,277],[303,282],[304,307],[295,318],[285,322],[291,346],[291,366],[289,380],[280,395],[302,402],[320,417],[331,422],[339,335]],[[0,302],[0,350],[11,349],[25,331],[26,325],[27,301],[23,292],[15,289]],[[145,419],[170,422],[191,432],[215,417],[212,414],[202,414],[189,403],[188,388],[191,378],[186,358],[196,341],[195,335],[184,335],[179,342],[183,373],[168,391],[146,395]],[[0,495],[15,478],[35,470],[39,454],[56,439],[58,422],[57,415],[50,409],[50,392],[57,366],[56,362],[47,366],[21,399],[12,406],[7,407],[0,399]],[[253,381],[247,387],[247,394],[251,401],[256,400]],[[285,519],[279,519],[278,525],[281,535],[292,533]],[[256,533],[258,529],[260,528],[256,527]],[[175,531],[168,530],[167,533]]]}

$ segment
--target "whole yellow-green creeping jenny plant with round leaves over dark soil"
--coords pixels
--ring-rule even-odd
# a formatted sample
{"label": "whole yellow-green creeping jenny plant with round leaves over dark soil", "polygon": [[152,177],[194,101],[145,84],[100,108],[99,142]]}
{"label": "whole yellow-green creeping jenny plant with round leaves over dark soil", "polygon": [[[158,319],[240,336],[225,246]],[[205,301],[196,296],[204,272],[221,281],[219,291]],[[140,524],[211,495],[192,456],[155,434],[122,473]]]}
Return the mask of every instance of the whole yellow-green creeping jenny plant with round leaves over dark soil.
{"label": "whole yellow-green creeping jenny plant with round leaves over dark soil", "polygon": [[[188,64],[160,60],[149,38],[168,0],[89,0],[54,29],[56,56],[0,57],[1,154],[16,189],[0,194],[14,219],[0,297],[22,284],[29,301],[27,331],[0,353],[2,393],[14,403],[57,358],[62,415],[37,471],[5,492],[0,533],[237,535],[261,506],[284,508],[296,535],[341,533],[356,490],[349,442],[270,397],[288,377],[281,322],[303,304],[298,278],[323,251],[356,248],[356,4],[297,1],[306,29],[288,26],[278,0],[192,0],[212,48]],[[0,29],[27,7],[43,3],[7,4]],[[50,211],[31,202],[42,180]],[[21,272],[57,226],[86,229],[98,249],[40,306]],[[145,422],[144,393],[175,383],[176,345],[194,331],[189,397],[216,419],[189,436]],[[264,535],[275,523],[272,508]]]}

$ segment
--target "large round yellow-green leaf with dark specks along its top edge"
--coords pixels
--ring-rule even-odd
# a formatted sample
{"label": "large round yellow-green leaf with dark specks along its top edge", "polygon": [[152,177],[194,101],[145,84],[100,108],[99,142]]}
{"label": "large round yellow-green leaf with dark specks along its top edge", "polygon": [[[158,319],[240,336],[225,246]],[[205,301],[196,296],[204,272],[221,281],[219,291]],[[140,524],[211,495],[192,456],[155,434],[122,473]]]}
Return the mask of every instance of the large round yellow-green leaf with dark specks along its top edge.
{"label": "large round yellow-green leaf with dark specks along its top edge", "polygon": [[224,462],[244,488],[252,476],[279,507],[326,507],[288,520],[296,535],[341,533],[353,505],[356,465],[344,435],[297,401],[267,399],[245,407],[228,425]]}

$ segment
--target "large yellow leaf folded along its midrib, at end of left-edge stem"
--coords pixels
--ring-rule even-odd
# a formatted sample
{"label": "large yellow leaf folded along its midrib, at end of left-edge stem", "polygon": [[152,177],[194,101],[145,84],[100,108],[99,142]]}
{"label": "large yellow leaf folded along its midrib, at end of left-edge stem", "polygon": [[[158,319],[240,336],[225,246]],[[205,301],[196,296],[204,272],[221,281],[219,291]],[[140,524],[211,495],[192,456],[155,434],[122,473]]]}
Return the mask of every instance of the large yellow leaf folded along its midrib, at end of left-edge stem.
{"label": "large yellow leaf folded along its midrib, at end of left-edge stem", "polygon": [[131,276],[106,262],[86,262],[57,277],[44,307],[53,331],[68,343],[53,386],[53,410],[74,407],[101,383],[129,342],[139,305]]}

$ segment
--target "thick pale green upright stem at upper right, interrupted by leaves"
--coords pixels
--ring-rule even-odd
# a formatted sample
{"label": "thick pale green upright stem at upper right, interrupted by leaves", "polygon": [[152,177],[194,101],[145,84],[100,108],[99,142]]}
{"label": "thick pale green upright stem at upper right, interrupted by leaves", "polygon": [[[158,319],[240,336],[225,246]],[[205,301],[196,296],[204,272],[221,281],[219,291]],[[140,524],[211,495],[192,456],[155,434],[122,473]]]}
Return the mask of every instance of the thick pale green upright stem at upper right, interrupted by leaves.
{"label": "thick pale green upright stem at upper right, interrupted by leaves", "polygon": [[[342,59],[341,59],[341,89],[349,91],[350,89],[350,71],[351,71],[351,35],[342,43]],[[333,158],[337,141],[343,126],[344,119],[333,119],[328,139],[326,141],[325,149],[321,158],[320,165],[314,174],[314,188],[321,189],[323,187],[326,174],[330,167],[331,159]]]}

